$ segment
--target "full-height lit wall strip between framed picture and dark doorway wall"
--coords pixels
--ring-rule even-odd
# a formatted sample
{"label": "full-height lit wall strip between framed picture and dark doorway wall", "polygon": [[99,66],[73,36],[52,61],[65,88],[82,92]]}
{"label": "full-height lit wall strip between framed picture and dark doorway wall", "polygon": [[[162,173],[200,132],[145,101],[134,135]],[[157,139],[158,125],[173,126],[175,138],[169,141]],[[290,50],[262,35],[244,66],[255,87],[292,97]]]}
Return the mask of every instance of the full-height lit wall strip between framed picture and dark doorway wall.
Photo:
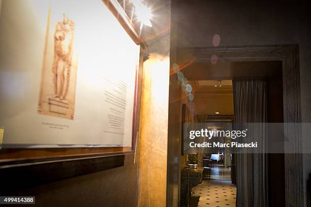
{"label": "full-height lit wall strip between framed picture and dark doorway wall", "polygon": [[145,28],[139,136],[138,206],[166,206],[170,1],[149,1],[152,28]]}

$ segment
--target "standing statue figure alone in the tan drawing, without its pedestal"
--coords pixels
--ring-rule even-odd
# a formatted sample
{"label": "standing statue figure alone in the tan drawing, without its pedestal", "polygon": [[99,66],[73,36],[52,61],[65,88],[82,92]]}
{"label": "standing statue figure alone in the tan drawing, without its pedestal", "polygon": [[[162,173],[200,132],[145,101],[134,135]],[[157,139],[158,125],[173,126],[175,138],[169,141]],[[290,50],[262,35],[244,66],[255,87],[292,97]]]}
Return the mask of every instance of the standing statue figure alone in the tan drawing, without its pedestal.
{"label": "standing statue figure alone in the tan drawing, without its pedestal", "polygon": [[75,23],[64,14],[54,32],[53,85],[54,98],[66,102],[70,85]]}

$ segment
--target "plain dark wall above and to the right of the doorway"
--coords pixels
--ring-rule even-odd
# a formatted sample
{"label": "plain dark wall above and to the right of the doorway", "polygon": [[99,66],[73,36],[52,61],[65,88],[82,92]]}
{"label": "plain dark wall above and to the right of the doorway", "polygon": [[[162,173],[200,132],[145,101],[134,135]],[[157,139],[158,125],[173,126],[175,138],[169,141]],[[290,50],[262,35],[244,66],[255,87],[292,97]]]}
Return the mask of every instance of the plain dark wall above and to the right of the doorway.
{"label": "plain dark wall above and to the right of the doorway", "polygon": [[[220,46],[299,45],[301,120],[311,122],[311,13],[307,2],[298,1],[186,1],[174,0],[177,47],[213,47],[219,34]],[[308,131],[302,131],[304,140]],[[303,189],[311,172],[311,155],[303,154]]]}

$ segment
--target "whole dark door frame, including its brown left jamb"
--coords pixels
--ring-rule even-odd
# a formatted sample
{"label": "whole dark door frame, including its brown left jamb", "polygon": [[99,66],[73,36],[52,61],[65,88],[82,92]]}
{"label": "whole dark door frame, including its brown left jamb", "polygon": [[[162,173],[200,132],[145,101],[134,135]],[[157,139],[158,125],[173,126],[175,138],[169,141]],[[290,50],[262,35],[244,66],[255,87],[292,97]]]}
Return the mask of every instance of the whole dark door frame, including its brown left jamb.
{"label": "whole dark door frame, including its brown left jamb", "polygon": [[[208,62],[217,57],[217,62],[238,61],[282,61],[284,122],[301,123],[300,76],[298,45],[240,46],[240,47],[195,47],[179,48],[176,51],[177,64],[184,62]],[[172,60],[172,59],[171,59]],[[181,99],[177,75],[171,61],[169,89],[169,126],[168,126],[168,177],[167,204],[180,200],[180,143],[181,143]],[[299,124],[285,134],[285,204],[303,206],[302,175],[302,138]],[[291,152],[291,153],[290,153]],[[292,153],[295,152],[295,153]],[[176,161],[176,158],[178,160]],[[173,202],[176,206],[176,202]]]}

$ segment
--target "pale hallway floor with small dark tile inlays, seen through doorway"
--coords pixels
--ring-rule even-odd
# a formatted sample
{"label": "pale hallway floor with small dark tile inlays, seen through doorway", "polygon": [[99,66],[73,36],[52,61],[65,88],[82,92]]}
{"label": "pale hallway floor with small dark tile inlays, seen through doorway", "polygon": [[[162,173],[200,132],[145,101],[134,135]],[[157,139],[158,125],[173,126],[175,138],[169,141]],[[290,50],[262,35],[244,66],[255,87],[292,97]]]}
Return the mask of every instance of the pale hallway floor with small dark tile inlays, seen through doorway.
{"label": "pale hallway floor with small dark tile inlays, seen through doorway", "polygon": [[223,165],[212,166],[210,179],[193,188],[190,206],[235,206],[236,187],[231,184],[230,169]]}

